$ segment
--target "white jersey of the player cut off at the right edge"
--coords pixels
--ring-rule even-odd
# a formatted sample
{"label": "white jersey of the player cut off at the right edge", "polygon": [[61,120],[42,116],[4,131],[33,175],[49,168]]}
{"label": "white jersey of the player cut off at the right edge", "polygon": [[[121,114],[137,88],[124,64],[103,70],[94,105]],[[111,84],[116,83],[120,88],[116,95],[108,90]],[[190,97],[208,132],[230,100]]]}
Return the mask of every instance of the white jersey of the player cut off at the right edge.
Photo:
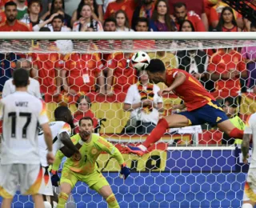
{"label": "white jersey of the player cut off at the right edge", "polygon": [[246,128],[244,134],[253,135],[253,150],[251,155],[250,167],[256,167],[256,113],[251,114],[250,118],[246,122]]}

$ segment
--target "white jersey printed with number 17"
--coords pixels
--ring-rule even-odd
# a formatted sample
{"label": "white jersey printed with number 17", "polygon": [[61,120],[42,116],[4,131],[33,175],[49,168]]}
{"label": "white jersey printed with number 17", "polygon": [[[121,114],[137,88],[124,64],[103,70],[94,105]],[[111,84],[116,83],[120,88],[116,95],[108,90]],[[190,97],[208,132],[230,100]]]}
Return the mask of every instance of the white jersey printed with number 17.
{"label": "white jersey printed with number 17", "polygon": [[49,122],[46,104],[27,92],[14,92],[1,102],[1,163],[40,164],[38,124]]}

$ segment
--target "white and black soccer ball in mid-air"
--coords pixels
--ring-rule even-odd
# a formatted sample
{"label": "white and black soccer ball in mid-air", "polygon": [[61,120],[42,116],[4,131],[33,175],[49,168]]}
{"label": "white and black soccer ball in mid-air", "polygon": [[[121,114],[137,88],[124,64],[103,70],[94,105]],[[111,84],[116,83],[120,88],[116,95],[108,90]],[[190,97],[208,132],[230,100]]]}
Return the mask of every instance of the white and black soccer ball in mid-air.
{"label": "white and black soccer ball in mid-air", "polygon": [[143,51],[138,51],[131,58],[131,63],[136,70],[145,70],[150,64],[150,56]]}

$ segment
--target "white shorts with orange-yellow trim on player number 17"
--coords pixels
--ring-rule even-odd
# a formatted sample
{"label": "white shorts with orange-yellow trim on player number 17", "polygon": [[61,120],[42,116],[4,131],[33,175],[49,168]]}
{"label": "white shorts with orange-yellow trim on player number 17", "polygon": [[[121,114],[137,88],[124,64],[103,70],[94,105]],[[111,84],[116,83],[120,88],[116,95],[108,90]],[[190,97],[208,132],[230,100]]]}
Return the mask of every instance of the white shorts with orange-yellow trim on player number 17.
{"label": "white shorts with orange-yellow trim on player number 17", "polygon": [[0,195],[13,198],[20,184],[24,195],[38,194],[42,183],[42,167],[32,164],[0,165]]}

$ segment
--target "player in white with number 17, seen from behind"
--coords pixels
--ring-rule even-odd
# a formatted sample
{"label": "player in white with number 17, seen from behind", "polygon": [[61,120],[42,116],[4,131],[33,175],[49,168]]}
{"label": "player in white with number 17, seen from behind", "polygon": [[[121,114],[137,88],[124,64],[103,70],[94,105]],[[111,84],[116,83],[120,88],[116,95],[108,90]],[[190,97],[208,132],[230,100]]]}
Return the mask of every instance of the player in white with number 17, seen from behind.
{"label": "player in white with number 17, seen from behind", "polygon": [[0,195],[2,207],[10,208],[17,185],[22,194],[31,194],[35,207],[44,208],[38,190],[42,183],[43,170],[38,150],[38,123],[42,127],[47,146],[46,160],[54,162],[52,134],[42,100],[27,93],[29,73],[24,69],[14,70],[16,92],[0,102],[3,120],[2,160],[0,165]]}

